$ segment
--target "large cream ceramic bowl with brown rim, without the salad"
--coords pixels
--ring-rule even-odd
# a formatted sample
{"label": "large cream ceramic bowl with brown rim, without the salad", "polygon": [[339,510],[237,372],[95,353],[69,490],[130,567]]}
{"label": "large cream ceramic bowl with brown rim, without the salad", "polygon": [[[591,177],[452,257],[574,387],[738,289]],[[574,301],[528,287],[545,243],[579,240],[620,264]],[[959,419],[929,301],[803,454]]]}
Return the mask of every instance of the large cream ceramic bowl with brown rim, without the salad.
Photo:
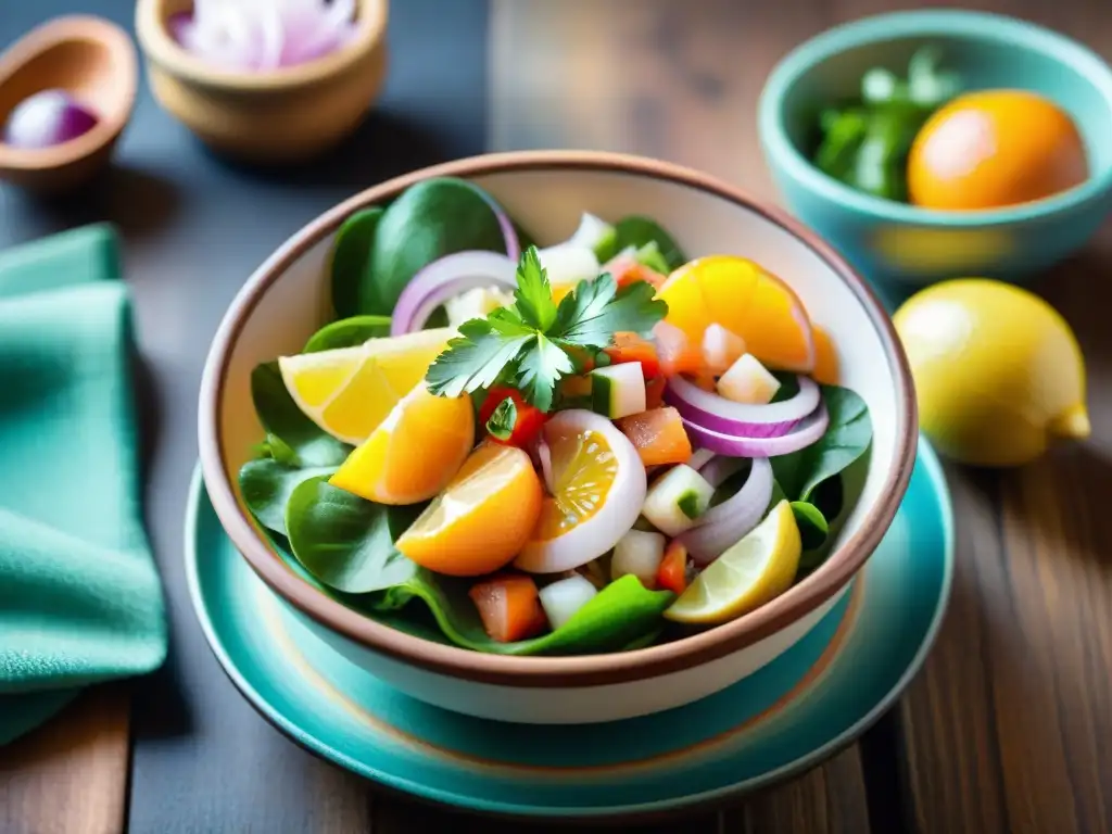
{"label": "large cream ceramic bowl with brown rim, without the salad", "polygon": [[[717,628],[634,652],[504,657],[424,641],[316,590],[270,547],[237,493],[236,474],[262,429],[251,405],[256,364],[298,351],[329,320],[329,250],[353,211],[385,203],[428,177],[487,189],[543,245],[574,231],[583,211],[644,214],[692,257],[738,254],[788,280],[838,351],[842,381],[868,404],[874,440],[861,498],[837,546],[811,576]],[[427,168],[364,191],[297,232],[247,281],[212,341],[200,391],[205,483],[237,549],[324,641],[421,701],[503,721],[589,723],[686,704],[755,672],[791,647],[847,590],[900,504],[915,459],[916,413],[892,325],[857,275],[781,211],[695,171],[605,153],[537,151]]]}

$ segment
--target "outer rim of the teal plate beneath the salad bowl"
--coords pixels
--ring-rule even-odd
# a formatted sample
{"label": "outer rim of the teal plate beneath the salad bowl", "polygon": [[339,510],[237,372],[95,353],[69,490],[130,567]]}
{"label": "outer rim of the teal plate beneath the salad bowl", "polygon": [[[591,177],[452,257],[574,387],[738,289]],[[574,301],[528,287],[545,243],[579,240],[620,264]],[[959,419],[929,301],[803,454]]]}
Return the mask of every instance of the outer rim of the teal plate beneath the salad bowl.
{"label": "outer rim of the teal plate beneath the salad bowl", "polygon": [[[817,747],[812,748],[806,754],[794,758],[784,765],[776,767],[774,770],[762,772],[759,775],[755,775],[749,778],[739,780],[736,783],[728,785],[722,785],[713,790],[696,792],[691,794],[684,794],[682,796],[671,797],[666,800],[644,802],[644,803],[627,803],[622,805],[613,806],[598,806],[598,805],[587,805],[587,806],[574,806],[574,805],[538,805],[538,804],[518,804],[518,803],[507,803],[503,801],[488,800],[483,797],[477,797],[473,795],[466,795],[463,793],[457,793],[450,790],[443,790],[435,786],[429,786],[420,782],[415,782],[414,780],[407,778],[405,776],[398,776],[390,773],[385,773],[381,770],[368,765],[366,762],[360,761],[347,753],[337,749],[336,746],[327,741],[314,735],[302,727],[299,723],[287,717],[285,712],[279,707],[275,706],[266,696],[264,696],[255,685],[247,678],[247,676],[240,672],[236,662],[230,656],[228,648],[226,647],[224,641],[221,639],[217,627],[215,626],[212,619],[209,616],[208,609],[205,604],[205,596],[201,592],[201,583],[199,576],[199,563],[198,563],[198,534],[199,524],[201,520],[200,512],[202,506],[202,496],[205,495],[205,486],[200,475],[200,468],[198,467],[192,477],[190,485],[189,503],[187,507],[186,515],[186,575],[189,593],[192,599],[193,608],[197,613],[198,620],[200,622],[201,629],[208,641],[209,647],[216,655],[225,673],[232,681],[235,686],[240,691],[240,693],[248,699],[248,702],[270,723],[272,723],[282,733],[290,736],[296,743],[308,749],[309,752],[331,761],[340,766],[375,781],[387,788],[393,788],[395,791],[400,791],[406,794],[410,794],[418,798],[428,800],[435,803],[443,804],[448,807],[455,807],[459,810],[470,810],[480,813],[493,813],[493,814],[509,814],[518,817],[559,817],[565,820],[570,818],[609,818],[615,816],[625,815],[652,815],[665,812],[675,812],[683,808],[691,808],[705,803],[712,803],[717,800],[728,798],[735,795],[744,794],[751,792],[755,788],[780,782],[791,775],[804,772],[810,767],[821,763],[826,759],[830,755],[837,752],[854,738],[861,735],[867,727],[870,727],[884,712],[886,712],[896,698],[903,693],[904,688],[911,682],[915,674],[922,667],[927,654],[930,653],[934,641],[937,636],[937,632],[941,627],[942,620],[944,618],[946,607],[949,604],[951,595],[951,586],[953,583],[953,570],[954,570],[954,523],[953,523],[953,508],[951,504],[951,497],[949,489],[946,487],[945,476],[942,471],[942,467],[935,456],[933,449],[929,446],[925,439],[920,438],[919,443],[919,454],[916,460],[916,467],[922,465],[924,468],[924,475],[927,481],[927,488],[931,495],[934,497],[937,504],[939,513],[939,527],[940,527],[940,542],[942,546],[942,577],[939,584],[937,598],[934,600],[933,612],[930,617],[930,623],[925,631],[922,633],[922,637],[919,643],[912,659],[905,666],[903,673],[895,681],[894,684],[887,689],[886,694],[876,699],[875,703],[868,708],[863,715],[861,715],[856,721],[854,721],[850,726],[844,728],[841,733],[832,738],[828,738],[823,744]],[[211,522],[217,527],[219,524],[216,522],[215,516]],[[222,530],[219,532],[220,536],[224,536]],[[229,548],[231,548],[229,544]],[[252,578],[254,577],[252,575]],[[266,594],[270,594],[269,589],[261,587]],[[851,590],[850,594],[854,592]],[[867,593],[867,592],[865,592]],[[850,599],[850,594],[843,598],[843,603]],[[277,598],[275,598],[276,604],[280,604]],[[844,615],[845,605],[840,603],[838,606]],[[277,609],[277,606],[276,606]],[[830,617],[830,615],[827,615]],[[840,617],[838,628],[844,624],[845,616]],[[824,618],[825,620],[826,618]],[[817,626],[816,626],[817,629]],[[836,664],[836,657],[832,662]],[[370,675],[370,673],[366,673]],[[385,684],[383,684],[385,686]],[[401,696],[405,697],[405,696]],[[713,696],[712,696],[713,697]],[[807,693],[796,693],[794,697],[805,698]],[[419,705],[419,702],[417,702]],[[424,705],[420,705],[424,706]],[[677,707],[678,709],[689,709],[696,708],[697,704],[688,705],[687,707]],[[649,718],[652,716],[648,716]],[[475,719],[481,721],[481,719]],[[637,721],[637,719],[632,719]],[[743,721],[738,726],[744,726],[747,724]],[[590,725],[605,727],[607,725]],[[509,768],[514,768],[514,763],[505,763]],[[527,765],[523,765],[527,770]]]}

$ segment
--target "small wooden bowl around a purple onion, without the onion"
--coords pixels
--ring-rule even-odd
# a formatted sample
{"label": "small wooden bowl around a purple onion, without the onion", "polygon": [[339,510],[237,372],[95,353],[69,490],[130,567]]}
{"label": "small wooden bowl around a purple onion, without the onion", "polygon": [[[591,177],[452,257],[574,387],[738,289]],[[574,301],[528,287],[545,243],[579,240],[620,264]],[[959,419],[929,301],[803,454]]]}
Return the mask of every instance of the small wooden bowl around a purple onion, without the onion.
{"label": "small wooden bowl around a purple onion, without the onion", "polygon": [[32,29],[0,56],[0,125],[29,96],[60,88],[96,111],[87,133],[50,148],[0,141],[0,179],[40,193],[82,185],[103,168],[135,107],[136,50],[128,34],[101,18],[57,18]]}

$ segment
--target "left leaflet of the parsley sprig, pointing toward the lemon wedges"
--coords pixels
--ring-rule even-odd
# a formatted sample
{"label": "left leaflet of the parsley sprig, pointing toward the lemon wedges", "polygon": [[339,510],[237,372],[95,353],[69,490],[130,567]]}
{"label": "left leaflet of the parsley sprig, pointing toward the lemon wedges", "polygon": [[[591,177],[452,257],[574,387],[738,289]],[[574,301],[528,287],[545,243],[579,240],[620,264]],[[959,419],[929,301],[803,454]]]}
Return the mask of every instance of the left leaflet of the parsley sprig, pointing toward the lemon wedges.
{"label": "left leaflet of the parsley sprig, pointing toward the lemon wedges", "polygon": [[459,332],[425,376],[433,394],[458,397],[464,391],[489,388],[529,341],[527,335],[507,337],[496,332],[484,319],[465,321]]}

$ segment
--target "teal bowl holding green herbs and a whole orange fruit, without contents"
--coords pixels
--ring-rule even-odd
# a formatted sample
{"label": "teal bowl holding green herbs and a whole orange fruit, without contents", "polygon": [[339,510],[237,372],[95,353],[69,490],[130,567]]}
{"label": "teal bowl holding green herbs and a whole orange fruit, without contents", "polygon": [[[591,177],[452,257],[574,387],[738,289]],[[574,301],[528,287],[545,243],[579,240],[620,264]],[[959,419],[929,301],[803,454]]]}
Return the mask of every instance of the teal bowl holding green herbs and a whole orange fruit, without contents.
{"label": "teal bowl holding green herbs and a whole orange fruit, without contents", "polygon": [[[871,67],[903,73],[925,44],[943,50],[967,89],[1027,89],[1055,101],[1081,131],[1089,179],[1005,209],[935,211],[862,193],[814,167],[820,109],[857,95]],[[788,208],[882,288],[964,276],[1022,284],[1083,247],[1112,210],[1112,69],[1076,41],[1014,18],[927,10],[827,30],[773,70],[758,130]]]}

